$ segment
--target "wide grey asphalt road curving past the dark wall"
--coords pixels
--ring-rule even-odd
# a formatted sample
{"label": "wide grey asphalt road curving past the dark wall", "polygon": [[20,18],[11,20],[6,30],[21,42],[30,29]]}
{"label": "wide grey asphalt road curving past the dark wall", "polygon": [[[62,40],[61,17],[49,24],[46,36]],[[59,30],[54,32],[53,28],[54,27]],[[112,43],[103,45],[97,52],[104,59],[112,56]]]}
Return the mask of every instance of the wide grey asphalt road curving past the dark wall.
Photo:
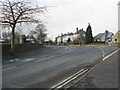
{"label": "wide grey asphalt road curving past the dark wall", "polygon": [[81,68],[102,61],[116,47],[46,46],[3,60],[3,88],[50,88]]}

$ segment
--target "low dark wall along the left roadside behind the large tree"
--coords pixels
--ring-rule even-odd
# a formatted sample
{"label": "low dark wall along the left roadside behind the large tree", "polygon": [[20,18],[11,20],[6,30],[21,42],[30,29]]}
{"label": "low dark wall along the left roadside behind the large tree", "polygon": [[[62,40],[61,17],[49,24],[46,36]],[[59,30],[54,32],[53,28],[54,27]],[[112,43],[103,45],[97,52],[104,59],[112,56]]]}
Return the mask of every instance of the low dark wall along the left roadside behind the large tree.
{"label": "low dark wall along the left roadside behind the large tree", "polygon": [[[2,44],[2,56],[10,54],[10,44]],[[33,51],[39,48],[42,48],[41,44],[16,44],[15,53],[23,53],[28,51]]]}

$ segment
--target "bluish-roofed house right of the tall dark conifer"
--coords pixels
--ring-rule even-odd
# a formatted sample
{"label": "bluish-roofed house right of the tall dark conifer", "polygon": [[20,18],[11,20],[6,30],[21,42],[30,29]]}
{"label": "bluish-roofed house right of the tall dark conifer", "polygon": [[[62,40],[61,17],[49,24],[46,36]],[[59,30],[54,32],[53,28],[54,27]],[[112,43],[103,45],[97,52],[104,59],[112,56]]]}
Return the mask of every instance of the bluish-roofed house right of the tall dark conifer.
{"label": "bluish-roofed house right of the tall dark conifer", "polygon": [[99,33],[94,37],[95,42],[108,42],[114,34],[109,31],[105,31],[105,33]]}

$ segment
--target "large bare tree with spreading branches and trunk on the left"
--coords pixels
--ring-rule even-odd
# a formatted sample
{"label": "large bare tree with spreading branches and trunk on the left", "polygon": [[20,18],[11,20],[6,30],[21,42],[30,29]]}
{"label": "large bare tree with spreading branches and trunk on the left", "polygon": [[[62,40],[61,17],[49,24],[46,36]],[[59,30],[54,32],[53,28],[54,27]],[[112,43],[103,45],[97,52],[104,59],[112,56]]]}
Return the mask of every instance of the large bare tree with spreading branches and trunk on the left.
{"label": "large bare tree with spreading branches and trunk on the left", "polygon": [[32,5],[30,0],[2,0],[0,1],[0,22],[7,24],[12,29],[11,36],[11,53],[15,49],[15,28],[17,23],[22,22],[39,22],[35,19],[35,14],[43,13],[46,7]]}

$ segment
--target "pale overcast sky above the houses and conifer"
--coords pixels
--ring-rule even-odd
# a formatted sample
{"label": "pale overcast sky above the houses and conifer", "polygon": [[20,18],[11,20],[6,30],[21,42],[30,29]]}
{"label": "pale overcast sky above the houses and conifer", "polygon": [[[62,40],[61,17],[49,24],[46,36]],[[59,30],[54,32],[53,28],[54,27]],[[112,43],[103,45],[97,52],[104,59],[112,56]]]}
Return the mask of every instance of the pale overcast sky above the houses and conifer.
{"label": "pale overcast sky above the houses and conifer", "polygon": [[105,30],[118,31],[119,0],[38,0],[47,6],[45,25],[52,39],[61,33],[76,32],[76,27],[86,31],[88,23],[93,36]]}

